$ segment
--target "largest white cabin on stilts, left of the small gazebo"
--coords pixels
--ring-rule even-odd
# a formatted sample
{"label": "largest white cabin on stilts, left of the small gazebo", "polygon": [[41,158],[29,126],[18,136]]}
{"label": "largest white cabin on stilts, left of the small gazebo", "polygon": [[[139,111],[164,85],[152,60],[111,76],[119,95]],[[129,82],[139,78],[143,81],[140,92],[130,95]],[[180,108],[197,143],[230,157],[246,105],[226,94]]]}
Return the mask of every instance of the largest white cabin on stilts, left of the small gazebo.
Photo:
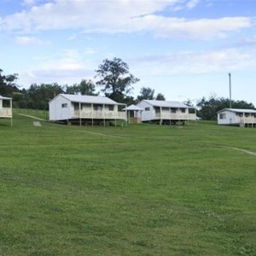
{"label": "largest white cabin on stilts, left of the small gazebo", "polygon": [[125,104],[103,96],[59,94],[49,102],[49,120],[80,125],[105,125],[106,121],[126,121]]}

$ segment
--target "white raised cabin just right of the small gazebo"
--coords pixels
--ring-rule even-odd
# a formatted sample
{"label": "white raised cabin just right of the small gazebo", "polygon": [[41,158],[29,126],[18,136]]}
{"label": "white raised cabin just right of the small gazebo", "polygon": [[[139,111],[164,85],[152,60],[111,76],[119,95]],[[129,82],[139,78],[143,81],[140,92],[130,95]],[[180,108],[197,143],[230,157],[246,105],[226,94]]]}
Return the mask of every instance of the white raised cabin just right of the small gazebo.
{"label": "white raised cabin just right of the small gazebo", "polygon": [[196,119],[195,108],[188,107],[182,102],[143,100],[137,103],[137,107],[143,109],[143,122],[175,125]]}

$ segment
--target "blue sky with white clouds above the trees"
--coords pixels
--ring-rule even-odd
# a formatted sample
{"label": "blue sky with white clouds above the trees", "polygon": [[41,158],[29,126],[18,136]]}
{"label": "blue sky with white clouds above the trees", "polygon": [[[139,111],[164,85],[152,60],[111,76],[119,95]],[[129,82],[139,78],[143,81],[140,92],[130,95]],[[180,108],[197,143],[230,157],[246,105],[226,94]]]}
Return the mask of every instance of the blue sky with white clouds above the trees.
{"label": "blue sky with white clouds above the trees", "polygon": [[[0,69],[31,84],[96,81],[122,59],[169,101],[256,108],[256,0],[0,0]],[[230,73],[230,76],[229,76]]]}

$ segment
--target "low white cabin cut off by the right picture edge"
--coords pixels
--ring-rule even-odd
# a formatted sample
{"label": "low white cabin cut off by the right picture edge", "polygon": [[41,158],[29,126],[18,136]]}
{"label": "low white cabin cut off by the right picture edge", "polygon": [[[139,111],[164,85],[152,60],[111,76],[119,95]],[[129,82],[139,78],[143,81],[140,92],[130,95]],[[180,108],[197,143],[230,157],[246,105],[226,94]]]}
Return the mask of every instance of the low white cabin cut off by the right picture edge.
{"label": "low white cabin cut off by the right picture edge", "polygon": [[218,111],[218,125],[256,127],[256,110],[224,108]]}

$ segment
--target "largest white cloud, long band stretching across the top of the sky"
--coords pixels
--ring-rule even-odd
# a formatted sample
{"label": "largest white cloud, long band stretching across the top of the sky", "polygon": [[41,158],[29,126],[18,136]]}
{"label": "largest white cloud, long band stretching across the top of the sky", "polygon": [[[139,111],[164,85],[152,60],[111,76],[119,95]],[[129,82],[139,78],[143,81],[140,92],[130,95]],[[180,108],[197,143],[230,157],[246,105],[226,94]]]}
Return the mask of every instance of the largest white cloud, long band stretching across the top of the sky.
{"label": "largest white cloud, long band stretching across the top of the sky", "polygon": [[148,0],[147,4],[139,0],[55,0],[7,16],[0,27],[21,32],[76,28],[87,33],[149,32],[164,38],[214,38],[252,26],[247,17],[189,20],[160,15],[179,3],[192,9],[199,0]]}

